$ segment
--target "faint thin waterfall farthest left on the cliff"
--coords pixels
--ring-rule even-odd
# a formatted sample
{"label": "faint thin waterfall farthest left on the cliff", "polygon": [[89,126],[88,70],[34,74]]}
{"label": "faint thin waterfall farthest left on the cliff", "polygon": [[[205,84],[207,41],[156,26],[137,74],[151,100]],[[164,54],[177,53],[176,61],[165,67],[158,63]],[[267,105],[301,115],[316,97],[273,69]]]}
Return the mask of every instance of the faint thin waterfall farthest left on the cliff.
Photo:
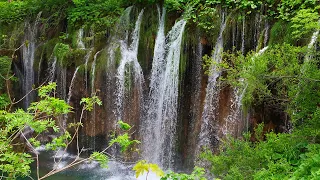
{"label": "faint thin waterfall farthest left on the cliff", "polygon": [[34,99],[34,92],[32,92],[32,86],[34,84],[34,56],[36,50],[36,35],[38,30],[38,23],[40,20],[41,12],[37,15],[37,18],[33,24],[25,23],[26,32],[24,36],[24,46],[22,46],[22,61],[23,61],[23,93],[27,95],[24,99],[23,106],[28,108],[31,101]]}

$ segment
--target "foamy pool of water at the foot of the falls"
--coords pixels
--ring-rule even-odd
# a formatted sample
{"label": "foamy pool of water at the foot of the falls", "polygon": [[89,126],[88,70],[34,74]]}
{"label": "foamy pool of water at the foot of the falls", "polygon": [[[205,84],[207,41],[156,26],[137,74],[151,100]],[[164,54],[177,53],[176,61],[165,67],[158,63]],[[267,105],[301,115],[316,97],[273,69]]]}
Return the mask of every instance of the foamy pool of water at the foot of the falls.
{"label": "foamy pool of water at the foot of the falls", "polygon": [[[56,163],[54,162],[56,158]],[[62,159],[58,163],[59,159]],[[63,168],[68,165],[73,159],[74,155],[60,152],[47,152],[40,151],[40,177],[48,173],[53,168]],[[46,180],[146,180],[146,175],[139,178],[135,178],[135,172],[132,170],[133,164],[120,163],[116,161],[110,161],[108,168],[101,168],[96,161],[84,162],[75,167],[69,168],[55,175],[48,177]],[[32,166],[33,178],[36,177],[36,166]],[[27,180],[30,178],[24,178]],[[36,179],[36,178],[35,178]],[[159,180],[155,174],[150,173],[148,180]]]}

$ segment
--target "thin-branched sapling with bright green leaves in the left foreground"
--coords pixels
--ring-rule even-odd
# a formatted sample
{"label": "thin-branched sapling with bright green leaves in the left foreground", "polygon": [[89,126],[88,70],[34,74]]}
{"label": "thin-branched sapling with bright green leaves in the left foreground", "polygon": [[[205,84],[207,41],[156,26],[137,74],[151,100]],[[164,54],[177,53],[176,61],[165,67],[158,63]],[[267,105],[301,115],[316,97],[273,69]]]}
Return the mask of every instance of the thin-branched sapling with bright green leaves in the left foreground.
{"label": "thin-branched sapling with bright green leaves in the left foreground", "polygon": [[[56,125],[55,121],[71,112],[72,108],[64,100],[55,97],[55,89],[55,83],[49,83],[41,87],[38,92],[41,100],[33,102],[27,111],[22,109],[11,111],[11,105],[15,103],[12,100],[11,103],[6,104],[7,106],[1,108],[0,169],[2,178],[16,179],[30,175],[30,164],[34,161],[33,156],[36,156],[36,161],[39,161],[36,147],[40,146],[41,142],[38,138],[41,137],[43,133],[50,132],[51,134],[57,135],[56,138],[45,143],[47,150],[64,148],[64,151],[66,151],[73,141],[77,141],[78,143],[78,131],[79,127],[82,126],[81,118],[79,122],[68,125],[68,130],[75,129],[73,130],[73,134],[63,129],[65,127],[58,127]],[[97,96],[93,96],[92,98],[83,98],[80,104],[82,105],[83,113],[84,111],[92,111],[95,104],[101,105],[101,101]],[[27,133],[27,129],[32,131]],[[83,159],[80,158],[81,152],[79,151],[79,147],[77,147],[77,157],[66,167],[53,169],[42,177],[39,176],[39,170],[37,170],[37,178],[47,178],[87,160],[96,160],[100,163],[101,167],[106,168],[108,165],[108,156],[104,153],[111,146],[119,144],[121,151],[124,152],[134,144],[140,143],[137,140],[130,140],[126,132],[131,129],[130,125],[120,121],[119,129],[122,129],[124,133],[114,137],[114,139],[110,141],[109,146],[101,152],[93,152],[90,157]],[[24,150],[25,147],[28,149],[27,151]],[[33,155],[28,152],[31,152]],[[61,159],[58,161],[61,161]],[[37,166],[39,166],[39,164]]]}

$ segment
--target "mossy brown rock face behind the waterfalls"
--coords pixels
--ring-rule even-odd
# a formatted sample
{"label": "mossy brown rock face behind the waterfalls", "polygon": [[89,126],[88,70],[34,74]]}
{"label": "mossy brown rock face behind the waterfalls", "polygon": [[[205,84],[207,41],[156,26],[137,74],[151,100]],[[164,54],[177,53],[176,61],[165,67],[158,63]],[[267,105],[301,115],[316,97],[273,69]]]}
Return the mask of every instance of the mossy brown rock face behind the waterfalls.
{"label": "mossy brown rock face behind the waterfalls", "polygon": [[[245,20],[239,21],[237,17],[228,17],[228,14],[221,12],[222,17],[225,18],[221,20],[221,26],[225,26],[224,29],[222,31],[222,27],[215,29],[217,31],[216,37],[206,37],[192,24],[186,24],[184,27],[184,24],[181,23],[183,27],[175,30],[174,24],[179,22],[174,21],[179,17],[179,14],[168,13],[161,19],[164,10],[158,8],[156,11],[155,9],[157,8],[145,8],[142,13],[141,9],[128,8],[120,18],[121,23],[116,25],[117,32],[108,34],[103,45],[101,45],[102,40],[98,41],[99,44],[91,41],[84,42],[83,39],[89,36],[88,31],[76,32],[78,47],[74,47],[74,49],[78,49],[78,53],[82,51],[83,53],[77,55],[76,51],[71,48],[73,54],[70,57],[72,58],[68,59],[67,63],[53,63],[55,62],[52,58],[53,55],[49,52],[52,52],[54,46],[51,47],[51,51],[47,51],[49,42],[34,40],[32,41],[34,48],[17,54],[18,60],[14,62],[13,70],[16,74],[19,74],[20,71],[30,73],[30,68],[33,68],[32,76],[26,76],[28,79],[20,77],[20,81],[24,82],[21,83],[21,86],[25,90],[31,88],[29,87],[31,86],[30,82],[40,85],[48,81],[49,76],[53,81],[57,81],[58,96],[68,100],[70,105],[74,107],[73,113],[70,113],[67,118],[61,118],[60,121],[63,122],[59,123],[62,125],[67,122],[79,121],[82,97],[97,95],[102,100],[102,106],[95,106],[93,111],[84,113],[83,127],[81,128],[81,146],[84,148],[99,150],[105,147],[110,139],[110,134],[117,133],[116,122],[121,119],[133,126],[133,138],[149,140],[150,144],[146,145],[149,146],[149,149],[145,146],[141,147],[144,158],[158,161],[157,163],[160,162],[164,167],[192,167],[202,145],[208,145],[216,150],[220,140],[227,134],[240,137],[243,131],[253,130],[260,122],[265,122],[268,125],[266,131],[275,129],[276,132],[283,132],[287,130],[288,119],[285,113],[277,112],[276,109],[270,107],[251,107],[250,111],[244,114],[241,108],[241,92],[219,84],[218,79],[216,79],[215,86],[208,86],[212,81],[212,74],[205,74],[202,68],[202,56],[214,54],[212,49],[218,47],[218,43],[220,43],[221,52],[240,50],[247,53],[267,46],[270,22],[258,14],[253,14],[246,17]],[[169,111],[175,115],[170,116],[174,119],[167,118],[166,121],[157,124],[159,127],[155,128],[152,127],[154,124],[150,122],[154,119],[148,118],[151,116],[148,116],[147,113],[151,106],[150,93],[155,92],[150,91],[150,87],[152,68],[154,68],[152,65],[155,55],[154,48],[160,32],[159,29],[161,29],[158,28],[161,21],[164,21],[163,33],[166,38],[163,39],[163,65],[160,64],[158,68],[159,71],[166,72],[170,66],[175,66],[172,63],[166,67],[168,62],[178,60],[178,67],[176,67],[178,72],[172,75],[170,74],[174,71],[172,69],[159,75],[164,81],[161,81],[158,87],[166,89],[161,91],[163,94],[160,96],[163,101],[170,101],[171,104],[163,103],[162,105],[168,106],[168,108],[158,108],[159,112],[156,113],[161,115],[158,117],[160,119],[165,119]],[[40,28],[39,25],[38,28]],[[180,31],[180,34],[171,30]],[[56,32],[56,34],[59,33]],[[180,35],[181,42],[177,41]],[[220,42],[219,38],[223,38],[223,41]],[[179,47],[181,50],[176,51]],[[217,52],[216,55],[218,56],[221,52]],[[6,52],[0,51],[0,53]],[[33,56],[29,60],[32,60],[34,64],[33,67],[28,66],[27,68],[25,67],[26,63],[23,62],[25,57],[30,54]],[[168,56],[170,57],[168,58]],[[124,61],[126,63],[122,64]],[[122,68],[121,74],[119,74],[119,68]],[[213,69],[212,73],[217,73],[215,68],[211,68]],[[25,69],[28,71],[23,71]],[[75,73],[75,71],[77,72]],[[217,73],[217,77],[223,75],[223,73]],[[31,77],[32,80],[30,80]],[[177,78],[177,81],[172,81],[173,84],[165,84],[168,81],[167,78],[170,77]],[[122,84],[119,90],[120,80]],[[28,87],[25,87],[27,85]],[[176,85],[176,87],[172,87],[172,85]],[[211,87],[214,89],[210,90]],[[15,90],[16,96],[21,97],[22,92],[19,92],[18,89]],[[171,91],[171,89],[173,90]],[[69,90],[72,92],[68,92]],[[214,93],[215,103],[206,107],[209,90]],[[121,93],[120,104],[119,93]],[[176,97],[170,93],[176,93]],[[25,104],[30,103],[30,100],[27,99]],[[211,118],[206,119],[205,110],[210,111]],[[204,123],[207,124],[204,125]],[[170,124],[169,129],[165,128],[169,126],[168,124]],[[171,127],[171,125],[174,126]],[[161,138],[158,138],[155,133],[157,128],[159,136],[165,137],[164,142],[159,142]],[[208,144],[200,144],[202,142],[201,134],[205,135],[204,138],[207,140],[204,142]],[[166,137],[166,135],[169,136]],[[148,153],[143,153],[152,151],[153,147],[157,148],[157,144],[160,144],[157,150],[159,153],[155,154],[159,154],[159,157],[148,157]],[[172,157],[163,158],[168,154]]]}

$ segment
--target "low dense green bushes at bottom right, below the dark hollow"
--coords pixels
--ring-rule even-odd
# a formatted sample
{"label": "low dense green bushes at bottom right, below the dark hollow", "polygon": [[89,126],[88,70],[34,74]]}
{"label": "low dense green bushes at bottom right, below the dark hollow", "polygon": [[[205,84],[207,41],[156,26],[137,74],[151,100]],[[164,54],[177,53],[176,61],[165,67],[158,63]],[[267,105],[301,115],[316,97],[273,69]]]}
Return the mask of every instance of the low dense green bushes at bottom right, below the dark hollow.
{"label": "low dense green bushes at bottom right, below the dark hollow", "polygon": [[201,157],[212,163],[212,173],[222,179],[287,179],[306,147],[304,138],[270,133],[258,143],[229,138],[219,155],[206,151]]}

